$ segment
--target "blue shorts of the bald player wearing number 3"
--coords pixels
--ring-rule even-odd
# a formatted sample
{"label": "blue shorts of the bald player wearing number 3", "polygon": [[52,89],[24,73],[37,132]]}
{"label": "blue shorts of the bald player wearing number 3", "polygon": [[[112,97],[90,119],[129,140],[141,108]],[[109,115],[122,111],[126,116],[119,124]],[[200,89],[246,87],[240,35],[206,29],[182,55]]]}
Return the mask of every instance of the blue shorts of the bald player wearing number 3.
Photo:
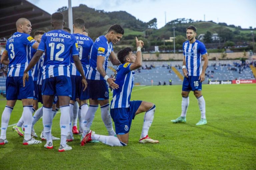
{"label": "blue shorts of the bald player wearing number 3", "polygon": [[6,100],[33,99],[33,78],[29,76],[23,87],[22,76],[6,78]]}

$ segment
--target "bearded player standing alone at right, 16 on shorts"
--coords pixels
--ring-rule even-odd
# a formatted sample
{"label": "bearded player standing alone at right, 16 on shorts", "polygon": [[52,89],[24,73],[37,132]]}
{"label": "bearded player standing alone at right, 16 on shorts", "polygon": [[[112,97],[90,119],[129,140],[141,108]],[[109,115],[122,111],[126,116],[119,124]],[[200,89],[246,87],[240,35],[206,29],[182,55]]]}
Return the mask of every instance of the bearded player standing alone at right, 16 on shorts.
{"label": "bearded player standing alone at right, 16 on shorts", "polygon": [[[182,85],[182,102],[181,102],[181,115],[173,123],[186,122],[186,114],[189,105],[189,92],[193,91],[197,98],[199,109],[201,111],[201,119],[196,125],[207,124],[205,117],[205,101],[202,95],[202,82],[205,79],[205,71],[208,65],[208,54],[205,45],[196,40],[196,27],[189,26],[187,28],[188,41],[183,43],[183,66],[182,71],[184,80]],[[204,59],[203,68],[201,60]]]}

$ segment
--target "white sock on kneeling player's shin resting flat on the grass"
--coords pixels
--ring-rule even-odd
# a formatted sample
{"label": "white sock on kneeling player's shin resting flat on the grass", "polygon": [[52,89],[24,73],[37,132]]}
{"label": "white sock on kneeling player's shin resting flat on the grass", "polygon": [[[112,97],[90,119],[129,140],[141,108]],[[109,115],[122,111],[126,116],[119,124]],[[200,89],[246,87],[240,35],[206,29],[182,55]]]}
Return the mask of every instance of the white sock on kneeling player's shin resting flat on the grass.
{"label": "white sock on kneeling player's shin resting flat on the grass", "polygon": [[115,136],[104,136],[99,134],[93,134],[91,136],[92,140],[98,140],[106,145],[110,146],[126,146],[127,144],[121,142],[117,137]]}

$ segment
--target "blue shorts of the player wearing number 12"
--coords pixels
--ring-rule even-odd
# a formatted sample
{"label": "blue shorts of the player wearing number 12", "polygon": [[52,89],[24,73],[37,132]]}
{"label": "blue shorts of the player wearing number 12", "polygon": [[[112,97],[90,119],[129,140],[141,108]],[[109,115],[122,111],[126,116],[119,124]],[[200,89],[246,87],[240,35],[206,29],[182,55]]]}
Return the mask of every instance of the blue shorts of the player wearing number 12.
{"label": "blue shorts of the player wearing number 12", "polygon": [[42,95],[55,95],[72,97],[71,79],[68,76],[56,76],[42,81]]}

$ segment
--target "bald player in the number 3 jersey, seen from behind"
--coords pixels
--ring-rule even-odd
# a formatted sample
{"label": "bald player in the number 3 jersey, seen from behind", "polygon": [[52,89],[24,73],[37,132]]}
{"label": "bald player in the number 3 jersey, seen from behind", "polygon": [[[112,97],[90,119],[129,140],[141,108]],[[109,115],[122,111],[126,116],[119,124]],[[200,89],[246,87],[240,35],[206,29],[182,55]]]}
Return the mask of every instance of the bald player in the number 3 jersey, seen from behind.
{"label": "bald player in the number 3 jersey, seen from behind", "polygon": [[17,100],[22,100],[24,120],[23,145],[41,143],[31,137],[33,109],[33,79],[31,71],[28,72],[26,87],[23,87],[22,76],[29,63],[28,48],[37,49],[39,43],[29,34],[31,23],[26,18],[20,18],[16,22],[17,32],[14,33],[6,43],[6,49],[1,57],[1,63],[9,66],[6,78],[6,106],[2,114],[0,144],[6,144],[6,130],[10,120],[11,112]]}

